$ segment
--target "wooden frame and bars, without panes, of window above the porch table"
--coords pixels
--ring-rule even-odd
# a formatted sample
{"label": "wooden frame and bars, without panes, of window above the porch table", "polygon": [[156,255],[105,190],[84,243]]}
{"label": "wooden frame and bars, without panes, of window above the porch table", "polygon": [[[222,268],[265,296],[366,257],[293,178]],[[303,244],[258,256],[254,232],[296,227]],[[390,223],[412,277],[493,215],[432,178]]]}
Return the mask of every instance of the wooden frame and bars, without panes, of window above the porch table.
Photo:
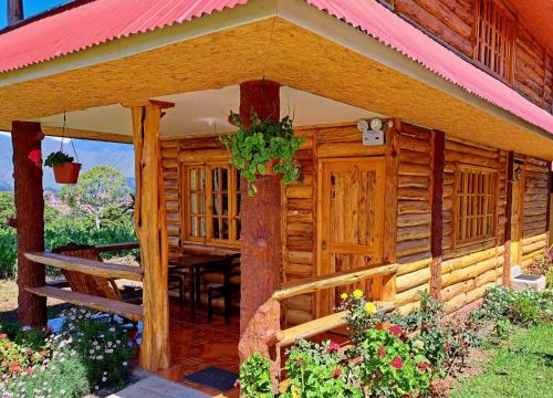
{"label": "wooden frame and bars, without panes, of window above the porch table", "polygon": [[[189,170],[194,168],[201,168],[205,172],[205,189],[204,189],[204,200],[205,200],[205,213],[204,218],[206,220],[206,237],[194,237],[190,233],[190,178]],[[228,216],[219,217],[222,219],[228,219],[228,228],[229,234],[228,239],[223,238],[215,238],[213,229],[212,229],[212,220],[217,218],[217,214],[213,214],[213,190],[212,190],[212,170],[213,169],[228,169]],[[237,220],[240,216],[237,213],[238,211],[238,200],[240,199],[241,192],[237,188],[237,179],[240,178],[239,172],[236,167],[231,166],[228,161],[209,161],[206,160],[204,163],[182,163],[180,166],[180,176],[181,176],[181,209],[182,209],[182,242],[184,243],[202,243],[202,244],[211,244],[217,247],[226,247],[226,248],[240,248],[240,240],[237,239],[238,233],[238,224]],[[219,190],[219,197],[222,198],[222,191]]]}

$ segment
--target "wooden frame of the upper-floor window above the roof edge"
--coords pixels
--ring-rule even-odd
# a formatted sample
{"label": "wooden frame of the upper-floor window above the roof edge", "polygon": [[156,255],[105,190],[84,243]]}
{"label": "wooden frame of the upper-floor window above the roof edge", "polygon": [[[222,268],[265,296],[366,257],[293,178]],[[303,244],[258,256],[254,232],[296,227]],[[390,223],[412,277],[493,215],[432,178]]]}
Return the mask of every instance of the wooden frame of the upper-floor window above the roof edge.
{"label": "wooden frame of the upper-floor window above the roof edge", "polygon": [[[502,57],[505,62],[505,71],[502,74],[501,72],[494,70],[493,67],[489,66],[486,64],[484,61],[481,60],[482,56],[479,52],[480,45],[481,45],[481,34],[480,34],[480,29],[481,29],[481,19],[482,14],[480,11],[480,4],[487,4],[493,7],[492,11],[495,11],[497,14],[500,15],[500,21],[504,22],[507,27],[503,27],[503,29],[498,29],[497,23],[498,21],[495,20],[494,23],[491,27],[492,33],[490,34],[489,42],[484,42],[483,45],[489,46],[491,51],[491,57],[495,57],[495,41],[497,38],[500,36],[507,43],[503,43],[501,45],[502,52],[500,52],[500,57]],[[503,30],[507,31],[507,34],[504,35]],[[499,80],[505,82],[505,83],[512,83],[514,78],[514,42],[515,42],[515,30],[517,30],[517,18],[514,13],[500,0],[477,0],[476,1],[476,7],[474,7],[474,27],[473,27],[473,34],[474,34],[474,51],[472,54],[472,57],[474,59],[478,64],[488,71],[489,73],[493,74],[495,77]]]}

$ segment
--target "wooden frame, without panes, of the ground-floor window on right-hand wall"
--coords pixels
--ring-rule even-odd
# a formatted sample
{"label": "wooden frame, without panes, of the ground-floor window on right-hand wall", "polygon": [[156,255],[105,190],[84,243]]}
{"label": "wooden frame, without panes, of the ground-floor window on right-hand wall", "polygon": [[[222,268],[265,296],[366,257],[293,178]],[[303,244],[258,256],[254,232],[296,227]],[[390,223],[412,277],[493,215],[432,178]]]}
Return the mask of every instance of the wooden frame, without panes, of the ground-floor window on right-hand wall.
{"label": "wooden frame, without panes, of the ground-floor window on right-hand wall", "polygon": [[[482,203],[482,211],[483,214],[478,212],[476,214],[472,214],[470,217],[472,218],[488,218],[491,217],[491,224],[488,227],[487,222],[484,223],[486,227],[489,228],[490,232],[480,232],[477,233],[473,237],[470,238],[461,238],[458,235],[458,228],[459,223],[463,222],[462,214],[459,214],[459,201],[461,198],[461,195],[459,193],[459,188],[461,184],[461,175],[462,172],[471,172],[471,174],[486,174],[491,176],[490,182],[492,187],[489,189],[490,193],[486,192],[472,192],[468,193],[465,192],[463,196],[468,195],[477,195],[477,196],[484,196],[483,198],[483,203]],[[467,181],[467,179],[465,180]],[[468,182],[467,182],[468,185]],[[482,187],[483,188],[483,187]],[[466,188],[467,189],[467,188]],[[481,166],[473,166],[469,164],[456,164],[456,170],[455,170],[455,181],[453,181],[453,193],[452,193],[452,209],[451,209],[451,248],[452,249],[458,249],[458,248],[463,248],[468,247],[471,244],[476,243],[482,243],[491,240],[497,239],[497,228],[498,228],[498,201],[499,201],[499,171],[494,168],[489,168],[489,167],[481,167]],[[492,210],[491,214],[488,214],[486,211],[486,207],[489,203],[489,200],[492,201]],[[477,206],[478,206],[478,199],[477,199]],[[468,216],[466,216],[468,217]],[[484,228],[486,228],[484,227]],[[478,223],[474,226],[472,224],[472,228],[476,228],[477,230],[481,230],[482,227],[478,226]]]}

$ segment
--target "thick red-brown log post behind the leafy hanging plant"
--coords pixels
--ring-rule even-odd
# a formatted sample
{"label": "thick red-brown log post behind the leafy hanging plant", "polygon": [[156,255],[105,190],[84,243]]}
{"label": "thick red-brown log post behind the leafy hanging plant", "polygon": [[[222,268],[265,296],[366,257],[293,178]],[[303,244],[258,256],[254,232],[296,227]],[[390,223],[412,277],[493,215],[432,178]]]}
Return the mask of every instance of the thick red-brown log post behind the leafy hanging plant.
{"label": "thick red-brown log post behind the leafy hanging plant", "polygon": [[[279,121],[280,84],[265,80],[240,84],[240,117],[246,126],[251,111],[261,119]],[[241,181],[240,359],[254,352],[270,357],[273,381],[280,355],[271,350],[271,341],[280,331],[280,314],[270,297],[279,287],[282,268],[281,185],[280,175],[258,176],[258,192],[249,196],[246,180]]]}

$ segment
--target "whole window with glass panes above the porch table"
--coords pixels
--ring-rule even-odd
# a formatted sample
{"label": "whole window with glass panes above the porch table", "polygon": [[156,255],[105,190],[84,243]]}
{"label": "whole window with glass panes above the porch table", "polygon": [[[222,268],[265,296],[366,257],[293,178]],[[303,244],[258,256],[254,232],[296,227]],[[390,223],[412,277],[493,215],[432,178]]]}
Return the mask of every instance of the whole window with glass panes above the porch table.
{"label": "whole window with glass panes above the porch table", "polygon": [[240,178],[227,164],[182,167],[185,241],[237,245],[240,240]]}

